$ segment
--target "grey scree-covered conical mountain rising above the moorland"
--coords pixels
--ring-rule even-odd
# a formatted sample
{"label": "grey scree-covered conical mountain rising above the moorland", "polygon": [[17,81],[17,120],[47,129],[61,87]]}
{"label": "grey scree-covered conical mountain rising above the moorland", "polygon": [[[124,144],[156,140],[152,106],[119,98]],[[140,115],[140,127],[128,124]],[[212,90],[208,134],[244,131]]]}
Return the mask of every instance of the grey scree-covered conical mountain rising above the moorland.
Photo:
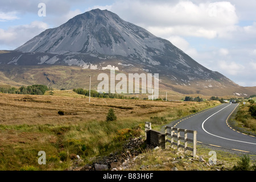
{"label": "grey scree-covered conical mountain rising above the moorland", "polygon": [[176,92],[250,94],[221,73],[203,67],[168,40],[100,9],[77,15],[14,51],[0,54],[0,63],[159,73],[160,84]]}

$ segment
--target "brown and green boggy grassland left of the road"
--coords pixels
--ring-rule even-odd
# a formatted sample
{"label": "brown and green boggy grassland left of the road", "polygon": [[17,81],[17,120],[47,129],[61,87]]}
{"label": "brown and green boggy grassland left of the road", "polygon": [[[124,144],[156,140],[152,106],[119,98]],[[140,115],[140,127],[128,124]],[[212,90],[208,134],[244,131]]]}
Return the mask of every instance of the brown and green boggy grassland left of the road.
{"label": "brown and green boggy grassland left of the road", "polygon": [[[164,125],[220,104],[91,98],[71,90],[44,96],[0,94],[0,170],[63,170],[92,163],[144,135],[144,123]],[[108,120],[108,121],[107,121]],[[46,152],[46,165],[38,152]]]}

